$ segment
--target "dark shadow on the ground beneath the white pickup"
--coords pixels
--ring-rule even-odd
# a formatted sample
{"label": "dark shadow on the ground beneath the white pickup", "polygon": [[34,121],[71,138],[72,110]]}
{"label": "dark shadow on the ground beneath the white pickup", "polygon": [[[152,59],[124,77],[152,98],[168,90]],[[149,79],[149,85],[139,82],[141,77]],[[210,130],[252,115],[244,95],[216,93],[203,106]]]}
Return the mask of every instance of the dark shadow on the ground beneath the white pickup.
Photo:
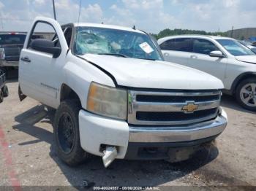
{"label": "dark shadow on the ground beneath the white pickup", "polygon": [[37,144],[45,141],[50,144],[50,157],[61,169],[68,182],[79,190],[92,186],[157,186],[182,178],[192,171],[210,163],[219,151],[214,144],[195,154],[195,157],[182,163],[167,163],[163,160],[138,161],[115,160],[109,168],[104,168],[100,157],[91,157],[83,165],[69,167],[56,155],[52,127],[41,128],[37,122],[52,124],[54,111],[47,111],[45,106],[38,105],[15,117],[18,125],[14,130],[34,136],[36,141],[26,141],[19,145]]}

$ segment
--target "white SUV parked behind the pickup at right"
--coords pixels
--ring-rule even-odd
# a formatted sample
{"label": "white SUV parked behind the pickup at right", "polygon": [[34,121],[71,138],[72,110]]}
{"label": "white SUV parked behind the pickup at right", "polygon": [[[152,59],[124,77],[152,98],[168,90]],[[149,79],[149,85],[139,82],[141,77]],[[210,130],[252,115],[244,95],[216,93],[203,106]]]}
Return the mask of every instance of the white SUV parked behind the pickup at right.
{"label": "white SUV parked behind the pickup at right", "polygon": [[237,40],[221,36],[168,36],[158,40],[165,61],[205,71],[222,80],[224,93],[256,111],[256,55]]}

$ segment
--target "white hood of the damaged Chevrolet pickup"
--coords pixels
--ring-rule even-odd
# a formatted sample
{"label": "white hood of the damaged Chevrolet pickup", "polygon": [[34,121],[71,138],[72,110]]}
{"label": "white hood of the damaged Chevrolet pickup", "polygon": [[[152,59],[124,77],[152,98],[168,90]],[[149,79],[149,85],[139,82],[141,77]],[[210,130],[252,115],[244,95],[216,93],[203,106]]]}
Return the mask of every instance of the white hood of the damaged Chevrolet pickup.
{"label": "white hood of the damaged Chevrolet pickup", "polygon": [[122,86],[179,90],[224,88],[216,77],[176,63],[111,55],[86,54],[80,57],[108,71]]}

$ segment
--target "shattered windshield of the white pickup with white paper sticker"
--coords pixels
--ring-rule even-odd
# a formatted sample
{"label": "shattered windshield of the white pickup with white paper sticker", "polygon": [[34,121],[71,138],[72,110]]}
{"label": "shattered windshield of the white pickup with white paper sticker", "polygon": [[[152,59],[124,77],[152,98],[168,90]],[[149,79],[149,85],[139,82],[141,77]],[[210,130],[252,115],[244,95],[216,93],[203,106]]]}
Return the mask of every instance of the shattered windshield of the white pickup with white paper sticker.
{"label": "shattered windshield of the white pickup with white paper sticker", "polygon": [[76,55],[90,53],[162,61],[148,35],[111,28],[78,27],[74,52]]}

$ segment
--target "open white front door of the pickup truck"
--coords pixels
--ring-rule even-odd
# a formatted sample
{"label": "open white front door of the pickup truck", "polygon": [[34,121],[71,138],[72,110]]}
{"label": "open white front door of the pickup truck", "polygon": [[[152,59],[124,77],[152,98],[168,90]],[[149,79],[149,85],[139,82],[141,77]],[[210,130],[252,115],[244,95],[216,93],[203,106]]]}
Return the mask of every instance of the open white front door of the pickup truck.
{"label": "open white front door of the pickup truck", "polygon": [[[61,48],[59,57],[53,58],[47,52],[34,50],[31,42],[36,38],[52,40],[55,47]],[[50,18],[36,19],[20,52],[19,83],[23,94],[42,104],[59,106],[58,94],[63,82],[61,68],[67,50],[67,42],[59,23]]]}

